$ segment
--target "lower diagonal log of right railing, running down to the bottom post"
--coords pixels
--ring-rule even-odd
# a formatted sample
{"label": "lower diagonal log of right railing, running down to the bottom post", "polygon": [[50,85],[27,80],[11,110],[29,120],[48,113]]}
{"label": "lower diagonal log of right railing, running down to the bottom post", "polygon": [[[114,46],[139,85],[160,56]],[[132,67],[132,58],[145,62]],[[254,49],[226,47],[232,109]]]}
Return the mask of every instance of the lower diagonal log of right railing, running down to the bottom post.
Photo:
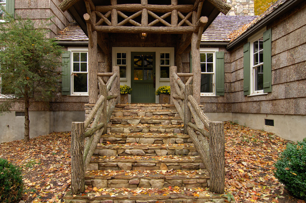
{"label": "lower diagonal log of right railing, running down to the bottom post", "polygon": [[206,170],[210,173],[210,157],[209,157],[209,145],[206,139],[203,139],[202,144],[198,139],[198,135],[188,126],[187,127],[188,135],[192,139],[194,147],[197,149]]}

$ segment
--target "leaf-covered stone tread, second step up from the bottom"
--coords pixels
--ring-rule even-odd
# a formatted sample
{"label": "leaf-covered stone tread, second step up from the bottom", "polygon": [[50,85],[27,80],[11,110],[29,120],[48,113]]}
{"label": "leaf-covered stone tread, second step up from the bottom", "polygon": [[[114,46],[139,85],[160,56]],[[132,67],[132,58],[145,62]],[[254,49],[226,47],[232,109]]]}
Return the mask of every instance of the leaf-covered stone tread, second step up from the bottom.
{"label": "leaf-covered stone tread, second step up from the bottom", "polygon": [[[112,174],[111,176],[109,174]],[[209,178],[209,173],[205,170],[193,170],[191,171],[161,171],[161,170],[145,170],[145,171],[123,171],[123,172],[112,172],[98,170],[94,172],[87,172],[85,174],[85,179],[112,179],[112,180],[122,180],[122,179],[166,179],[166,180],[178,180],[178,179],[189,179],[186,181],[188,183],[197,183],[197,179]]]}

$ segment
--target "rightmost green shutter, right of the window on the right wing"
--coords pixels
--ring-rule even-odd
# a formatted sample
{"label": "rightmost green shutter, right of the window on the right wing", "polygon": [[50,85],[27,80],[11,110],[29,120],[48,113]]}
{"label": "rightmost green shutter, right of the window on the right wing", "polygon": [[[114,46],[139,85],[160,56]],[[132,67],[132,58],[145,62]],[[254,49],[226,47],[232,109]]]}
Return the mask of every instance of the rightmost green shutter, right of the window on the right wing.
{"label": "rightmost green shutter, right of the window on the right wing", "polygon": [[271,28],[263,34],[263,88],[271,92]]}

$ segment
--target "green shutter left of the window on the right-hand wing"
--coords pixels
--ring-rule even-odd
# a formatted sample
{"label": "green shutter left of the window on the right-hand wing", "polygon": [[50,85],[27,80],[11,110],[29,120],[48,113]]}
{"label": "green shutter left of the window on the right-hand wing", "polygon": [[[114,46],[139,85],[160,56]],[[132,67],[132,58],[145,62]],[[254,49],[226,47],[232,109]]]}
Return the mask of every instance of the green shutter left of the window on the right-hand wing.
{"label": "green shutter left of the window on the right-hand wing", "polygon": [[243,45],[243,94],[250,94],[250,43]]}

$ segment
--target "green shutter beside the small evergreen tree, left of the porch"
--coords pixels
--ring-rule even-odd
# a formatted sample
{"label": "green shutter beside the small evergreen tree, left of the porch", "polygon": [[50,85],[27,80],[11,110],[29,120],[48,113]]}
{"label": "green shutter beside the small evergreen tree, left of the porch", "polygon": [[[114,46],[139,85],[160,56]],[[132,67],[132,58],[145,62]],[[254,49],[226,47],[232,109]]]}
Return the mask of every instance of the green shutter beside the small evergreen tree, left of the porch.
{"label": "green shutter beside the small evergreen tree, left of the porch", "polygon": [[70,95],[70,51],[62,53],[62,95]]}

